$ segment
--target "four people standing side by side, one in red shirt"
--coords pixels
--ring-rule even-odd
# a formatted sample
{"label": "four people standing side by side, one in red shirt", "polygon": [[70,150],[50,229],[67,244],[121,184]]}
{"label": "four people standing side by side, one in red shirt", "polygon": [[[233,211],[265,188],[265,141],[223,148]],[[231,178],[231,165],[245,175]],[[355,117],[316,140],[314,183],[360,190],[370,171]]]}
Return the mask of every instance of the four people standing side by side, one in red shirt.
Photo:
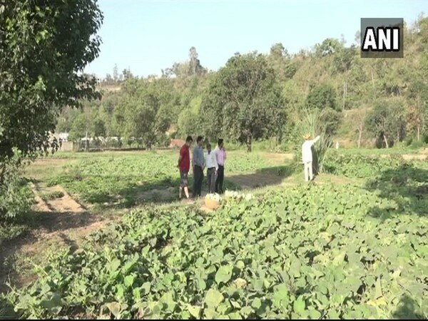
{"label": "four people standing side by side, one in red shirt", "polygon": [[[188,190],[188,173],[190,170],[190,147],[193,144],[192,136],[185,139],[184,145],[180,148],[177,167],[180,169],[180,190],[179,198],[185,197],[190,200]],[[204,170],[207,168],[208,193],[223,193],[223,180],[225,177],[226,151],[223,139],[218,140],[218,146],[214,151],[210,143],[207,143],[207,152],[203,151],[203,136],[196,138],[196,146],[193,148],[193,158],[191,161],[193,169],[193,190],[192,197],[200,196],[202,191]]]}

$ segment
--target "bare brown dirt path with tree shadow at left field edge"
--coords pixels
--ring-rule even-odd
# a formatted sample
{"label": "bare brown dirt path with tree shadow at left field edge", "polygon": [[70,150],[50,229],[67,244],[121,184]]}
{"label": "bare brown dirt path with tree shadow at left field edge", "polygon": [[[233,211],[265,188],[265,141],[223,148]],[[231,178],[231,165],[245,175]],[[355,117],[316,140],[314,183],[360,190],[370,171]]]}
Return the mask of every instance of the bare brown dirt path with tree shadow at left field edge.
{"label": "bare brown dirt path with tree shadow at left field edge", "polygon": [[36,196],[36,223],[24,237],[5,242],[0,248],[0,293],[11,285],[25,286],[36,279],[34,265],[43,263],[49,253],[79,243],[115,218],[91,213],[60,185],[49,188],[33,183]]}

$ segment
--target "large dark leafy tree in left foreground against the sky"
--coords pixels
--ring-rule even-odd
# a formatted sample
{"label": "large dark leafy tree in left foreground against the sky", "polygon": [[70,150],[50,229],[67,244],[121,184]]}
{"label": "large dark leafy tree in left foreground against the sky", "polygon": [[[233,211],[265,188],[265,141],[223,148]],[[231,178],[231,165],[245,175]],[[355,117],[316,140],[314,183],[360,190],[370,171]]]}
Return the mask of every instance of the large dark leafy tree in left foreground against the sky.
{"label": "large dark leafy tree in left foreground against the sky", "polygon": [[1,1],[0,163],[14,147],[23,156],[54,151],[49,132],[63,106],[99,97],[82,71],[98,56],[102,21],[96,0]]}

